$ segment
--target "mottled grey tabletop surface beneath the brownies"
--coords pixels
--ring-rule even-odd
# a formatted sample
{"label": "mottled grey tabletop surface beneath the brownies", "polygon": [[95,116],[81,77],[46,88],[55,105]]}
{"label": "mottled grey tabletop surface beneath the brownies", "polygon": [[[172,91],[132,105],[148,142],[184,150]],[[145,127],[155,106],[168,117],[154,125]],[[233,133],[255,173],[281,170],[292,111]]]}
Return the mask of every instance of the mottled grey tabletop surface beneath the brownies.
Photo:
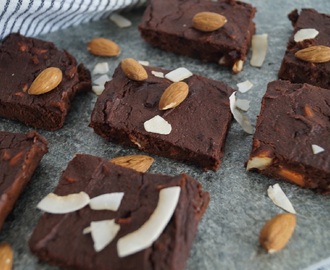
{"label": "mottled grey tabletop surface beneath the brownies", "polygon": [[[146,44],[139,35],[137,24],[143,9],[124,15],[133,26],[120,29],[108,20],[93,22],[57,31],[40,38],[53,41],[58,47],[68,50],[90,70],[96,63],[107,61],[111,77],[121,59],[133,57],[147,60],[151,65],[167,69],[184,66],[212,79],[223,80],[237,89],[236,84],[250,80],[254,86],[239,98],[251,100],[248,116],[255,123],[260,101],[267,83],[277,78],[292,26],[287,14],[293,9],[312,7],[330,13],[328,0],[250,0],[257,7],[255,22],[257,33],[269,35],[267,58],[261,68],[245,63],[244,70],[234,75],[225,67],[203,63],[161,51]],[[115,58],[101,58],[89,54],[87,42],[93,37],[106,37],[117,42],[122,53]],[[250,59],[251,55],[249,55]],[[94,76],[94,79],[97,76]],[[9,242],[15,252],[14,269],[57,269],[38,262],[27,246],[27,241],[37,224],[41,211],[37,203],[57,185],[61,172],[76,153],[87,153],[104,158],[141,153],[106,142],[88,127],[96,95],[88,93],[77,96],[65,126],[55,132],[38,130],[49,141],[49,153],[43,158],[31,182],[9,215],[0,241]],[[27,132],[32,128],[20,123],[0,119],[0,129],[12,132]],[[155,157],[150,172],[176,175],[186,172],[198,179],[210,192],[209,207],[199,224],[187,269],[304,269],[330,256],[330,197],[280,182],[281,187],[297,211],[297,227],[288,246],[273,255],[266,254],[259,246],[258,235],[266,220],[284,212],[267,196],[269,185],[275,180],[247,173],[244,162],[251,149],[252,136],[243,132],[233,122],[228,134],[225,156],[217,172],[203,172],[199,168],[166,158]],[[302,147],[309,147],[303,146]]]}

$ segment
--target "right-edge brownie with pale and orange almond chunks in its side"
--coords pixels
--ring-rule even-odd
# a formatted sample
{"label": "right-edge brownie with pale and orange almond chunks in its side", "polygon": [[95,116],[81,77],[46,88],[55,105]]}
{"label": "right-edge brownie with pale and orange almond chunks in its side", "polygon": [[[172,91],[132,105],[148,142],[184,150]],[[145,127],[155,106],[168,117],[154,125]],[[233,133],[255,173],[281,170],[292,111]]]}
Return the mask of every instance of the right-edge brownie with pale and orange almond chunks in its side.
{"label": "right-edge brownie with pale and orange almond chunks in its side", "polygon": [[[309,84],[268,84],[248,170],[330,192],[330,91]],[[313,145],[324,149],[313,151]]]}

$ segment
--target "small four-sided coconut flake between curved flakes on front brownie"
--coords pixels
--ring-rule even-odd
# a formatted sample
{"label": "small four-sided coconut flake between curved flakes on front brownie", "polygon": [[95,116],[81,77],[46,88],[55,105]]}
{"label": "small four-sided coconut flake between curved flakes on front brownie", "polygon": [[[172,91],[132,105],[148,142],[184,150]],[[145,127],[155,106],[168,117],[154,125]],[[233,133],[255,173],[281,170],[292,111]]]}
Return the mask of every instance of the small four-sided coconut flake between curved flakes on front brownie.
{"label": "small four-sided coconut flake between curved flakes on front brownie", "polygon": [[94,197],[90,200],[89,206],[93,210],[111,210],[117,211],[121,200],[123,199],[124,192],[106,193]]}

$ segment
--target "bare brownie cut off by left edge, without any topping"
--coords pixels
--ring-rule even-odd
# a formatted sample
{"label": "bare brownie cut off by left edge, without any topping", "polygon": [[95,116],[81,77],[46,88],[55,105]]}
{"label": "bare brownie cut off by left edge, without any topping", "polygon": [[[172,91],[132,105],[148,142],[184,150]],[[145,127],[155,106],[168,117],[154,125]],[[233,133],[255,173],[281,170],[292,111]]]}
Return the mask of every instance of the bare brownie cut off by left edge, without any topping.
{"label": "bare brownie cut off by left edge, without any topping", "polygon": [[47,141],[35,131],[0,131],[0,229],[47,151]]}

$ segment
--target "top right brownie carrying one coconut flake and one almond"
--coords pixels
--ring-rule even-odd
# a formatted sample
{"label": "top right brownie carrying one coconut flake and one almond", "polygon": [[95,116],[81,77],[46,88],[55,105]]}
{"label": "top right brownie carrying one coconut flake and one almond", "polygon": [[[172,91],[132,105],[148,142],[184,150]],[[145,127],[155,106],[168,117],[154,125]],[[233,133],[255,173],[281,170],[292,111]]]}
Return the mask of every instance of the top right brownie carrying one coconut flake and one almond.
{"label": "top right brownie carrying one coconut flake and one almond", "polygon": [[[318,13],[314,9],[302,9],[300,14],[297,10],[292,11],[289,19],[294,26],[294,31],[288,42],[278,77],[295,83],[308,83],[330,89],[330,62],[311,63],[295,57],[297,51],[310,46],[330,47],[330,16]],[[313,39],[295,42],[294,35],[305,28],[314,28],[319,33]]]}

